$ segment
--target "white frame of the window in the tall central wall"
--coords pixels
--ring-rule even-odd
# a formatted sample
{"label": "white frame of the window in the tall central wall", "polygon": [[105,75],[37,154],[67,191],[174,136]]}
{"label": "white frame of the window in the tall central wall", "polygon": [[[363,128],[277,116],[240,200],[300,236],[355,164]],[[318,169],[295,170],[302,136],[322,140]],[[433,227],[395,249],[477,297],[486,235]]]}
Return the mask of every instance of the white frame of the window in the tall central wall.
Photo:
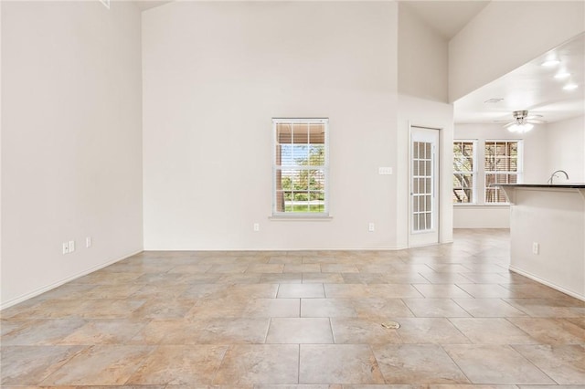
{"label": "white frame of the window in the tall central wall", "polygon": [[[277,164],[277,125],[282,123],[324,125],[324,165],[282,165]],[[324,212],[280,212],[277,211],[276,172],[281,169],[323,170],[324,171]],[[328,118],[272,118],[272,216],[278,218],[323,218],[329,217],[329,119]]]}

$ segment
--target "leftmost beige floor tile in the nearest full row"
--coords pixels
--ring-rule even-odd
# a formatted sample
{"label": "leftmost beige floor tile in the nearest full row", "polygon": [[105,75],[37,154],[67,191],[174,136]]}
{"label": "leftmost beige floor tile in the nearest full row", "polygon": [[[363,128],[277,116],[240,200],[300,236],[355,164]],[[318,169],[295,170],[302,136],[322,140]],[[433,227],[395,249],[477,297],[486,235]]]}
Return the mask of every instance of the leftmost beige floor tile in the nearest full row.
{"label": "leftmost beige floor tile in the nearest full row", "polygon": [[81,346],[2,346],[0,383],[38,385],[69,359],[81,352]]}

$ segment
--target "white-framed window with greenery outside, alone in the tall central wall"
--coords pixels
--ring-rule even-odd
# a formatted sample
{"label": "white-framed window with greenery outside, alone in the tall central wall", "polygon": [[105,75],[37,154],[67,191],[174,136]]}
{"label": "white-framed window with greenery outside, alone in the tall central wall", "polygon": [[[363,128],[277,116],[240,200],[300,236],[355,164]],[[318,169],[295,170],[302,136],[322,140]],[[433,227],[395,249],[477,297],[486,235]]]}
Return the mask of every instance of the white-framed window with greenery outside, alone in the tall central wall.
{"label": "white-framed window with greenery outside, alone in the tall central wall", "polygon": [[274,216],[326,216],[327,119],[273,119]]}

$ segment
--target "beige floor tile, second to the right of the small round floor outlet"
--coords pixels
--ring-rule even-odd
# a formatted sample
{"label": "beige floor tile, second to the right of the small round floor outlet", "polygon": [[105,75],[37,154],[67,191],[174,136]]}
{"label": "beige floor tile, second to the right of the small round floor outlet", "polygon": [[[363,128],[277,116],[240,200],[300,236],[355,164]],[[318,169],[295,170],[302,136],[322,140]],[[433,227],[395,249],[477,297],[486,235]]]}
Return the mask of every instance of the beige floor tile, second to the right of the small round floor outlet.
{"label": "beige floor tile, second to the right of the small round floor outlet", "polygon": [[453,325],[477,344],[536,343],[527,332],[502,318],[453,318]]}

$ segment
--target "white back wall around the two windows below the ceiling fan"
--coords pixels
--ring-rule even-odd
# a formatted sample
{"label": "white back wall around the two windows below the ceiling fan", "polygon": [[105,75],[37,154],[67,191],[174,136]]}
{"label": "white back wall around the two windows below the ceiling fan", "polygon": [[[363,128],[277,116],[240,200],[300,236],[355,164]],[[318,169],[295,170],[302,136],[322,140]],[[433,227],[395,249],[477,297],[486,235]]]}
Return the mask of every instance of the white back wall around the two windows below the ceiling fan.
{"label": "white back wall around the two windows below the ceiling fan", "polygon": [[[485,140],[523,140],[524,173],[526,184],[544,184],[547,182],[548,150],[547,125],[536,124],[532,131],[516,134],[507,131],[500,124],[455,124],[455,140],[477,141],[477,163],[484,161],[483,145]],[[478,174],[477,188],[484,187],[484,176]],[[483,205],[484,193],[477,192],[479,205],[453,205],[454,228],[509,228],[510,207],[508,205]]]}

